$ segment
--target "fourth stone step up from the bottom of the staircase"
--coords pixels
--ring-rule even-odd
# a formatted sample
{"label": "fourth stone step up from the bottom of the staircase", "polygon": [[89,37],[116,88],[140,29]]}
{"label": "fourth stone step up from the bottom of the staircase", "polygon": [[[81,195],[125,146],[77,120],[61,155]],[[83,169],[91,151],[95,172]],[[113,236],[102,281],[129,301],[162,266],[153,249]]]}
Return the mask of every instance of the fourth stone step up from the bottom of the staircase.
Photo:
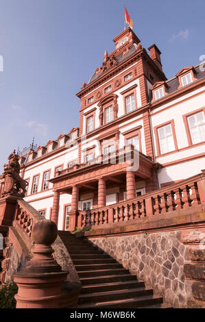
{"label": "fourth stone step up from the bottom of the staircase", "polygon": [[121,275],[106,275],[106,276],[92,276],[92,277],[81,277],[80,282],[82,285],[96,285],[101,283],[112,283],[112,282],[125,282],[125,281],[136,281],[136,276],[129,274]]}

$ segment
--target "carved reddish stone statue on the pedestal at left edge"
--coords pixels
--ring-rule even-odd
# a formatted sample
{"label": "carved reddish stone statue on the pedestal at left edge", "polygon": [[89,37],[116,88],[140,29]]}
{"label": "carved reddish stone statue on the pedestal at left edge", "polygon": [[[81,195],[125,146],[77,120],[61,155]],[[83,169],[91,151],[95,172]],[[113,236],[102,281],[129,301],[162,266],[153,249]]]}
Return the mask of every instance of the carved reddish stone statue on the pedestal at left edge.
{"label": "carved reddish stone statue on the pedestal at left edge", "polygon": [[[20,177],[19,157],[15,150],[8,157],[8,164],[5,164],[2,177],[5,179],[1,197],[17,196],[25,197],[27,182]],[[21,192],[21,189],[23,190]]]}

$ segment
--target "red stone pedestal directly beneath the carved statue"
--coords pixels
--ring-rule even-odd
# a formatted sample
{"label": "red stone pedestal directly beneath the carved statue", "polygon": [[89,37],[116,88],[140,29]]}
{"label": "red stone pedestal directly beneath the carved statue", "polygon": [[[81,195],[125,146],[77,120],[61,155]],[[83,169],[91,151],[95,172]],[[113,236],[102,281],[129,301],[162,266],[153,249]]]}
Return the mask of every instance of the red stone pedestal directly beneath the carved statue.
{"label": "red stone pedestal directly beneath the carved statue", "polygon": [[0,225],[12,225],[16,210],[16,200],[19,198],[12,196],[0,198]]}

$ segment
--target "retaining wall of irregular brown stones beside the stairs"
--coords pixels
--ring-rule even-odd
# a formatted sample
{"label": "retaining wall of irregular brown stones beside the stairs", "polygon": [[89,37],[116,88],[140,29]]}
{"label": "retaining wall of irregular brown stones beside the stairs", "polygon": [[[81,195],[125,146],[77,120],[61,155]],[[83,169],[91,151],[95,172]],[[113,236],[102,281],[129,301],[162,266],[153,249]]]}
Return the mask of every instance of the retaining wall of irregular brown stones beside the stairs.
{"label": "retaining wall of irregular brown stones beside the stairs", "polygon": [[180,240],[180,230],[91,238],[93,244],[143,280],[147,288],[153,288],[154,294],[174,308],[186,308],[191,281],[185,280],[184,262],[189,254],[188,246]]}

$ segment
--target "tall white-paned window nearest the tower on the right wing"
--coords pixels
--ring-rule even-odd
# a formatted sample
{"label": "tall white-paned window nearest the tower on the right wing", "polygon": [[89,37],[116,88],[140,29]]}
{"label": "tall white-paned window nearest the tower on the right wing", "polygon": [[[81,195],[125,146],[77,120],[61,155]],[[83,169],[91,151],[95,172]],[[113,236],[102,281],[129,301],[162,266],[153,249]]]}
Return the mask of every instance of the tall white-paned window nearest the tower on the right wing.
{"label": "tall white-paned window nearest the tower on the right wing", "polygon": [[158,128],[158,138],[161,154],[175,150],[171,124]]}

